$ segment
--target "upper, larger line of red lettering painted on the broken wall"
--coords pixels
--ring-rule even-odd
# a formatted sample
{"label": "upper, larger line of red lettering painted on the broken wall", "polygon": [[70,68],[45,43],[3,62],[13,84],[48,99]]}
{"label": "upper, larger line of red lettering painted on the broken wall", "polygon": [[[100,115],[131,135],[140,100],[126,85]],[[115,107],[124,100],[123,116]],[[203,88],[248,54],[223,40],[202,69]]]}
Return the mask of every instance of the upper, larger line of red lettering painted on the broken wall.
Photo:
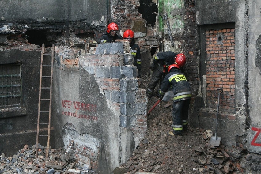
{"label": "upper, larger line of red lettering painted on the broken wall", "polygon": [[62,100],[62,107],[63,108],[71,108],[73,105],[73,108],[76,110],[83,110],[83,111],[89,111],[89,112],[97,112],[97,105],[96,104],[90,104],[90,103],[82,103],[79,101],[70,101],[70,100]]}

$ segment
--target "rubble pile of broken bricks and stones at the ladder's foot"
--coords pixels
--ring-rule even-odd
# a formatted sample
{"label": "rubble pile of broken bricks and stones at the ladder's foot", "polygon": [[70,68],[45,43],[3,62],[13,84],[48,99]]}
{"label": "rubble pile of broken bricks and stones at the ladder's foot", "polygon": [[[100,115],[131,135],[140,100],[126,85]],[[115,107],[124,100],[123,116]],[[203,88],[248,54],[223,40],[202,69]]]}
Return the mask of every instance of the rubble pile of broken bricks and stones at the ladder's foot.
{"label": "rubble pile of broken bricks and stones at the ladder's foot", "polygon": [[35,157],[36,145],[25,145],[12,157],[0,156],[0,174],[30,173],[30,174],[91,174],[95,173],[87,166],[78,164],[73,150],[51,149],[49,158],[45,158],[46,146],[38,145],[38,158]]}

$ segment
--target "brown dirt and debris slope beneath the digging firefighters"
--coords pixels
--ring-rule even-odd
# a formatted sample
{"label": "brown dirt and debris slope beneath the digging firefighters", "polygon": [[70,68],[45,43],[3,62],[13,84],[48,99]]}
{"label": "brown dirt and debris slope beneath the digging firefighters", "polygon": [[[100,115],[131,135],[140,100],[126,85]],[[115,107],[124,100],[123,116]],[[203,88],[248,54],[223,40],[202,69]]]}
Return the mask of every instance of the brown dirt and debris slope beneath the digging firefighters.
{"label": "brown dirt and debris slope beneath the digging firefighters", "polygon": [[[149,76],[142,76],[139,87],[146,89]],[[156,96],[148,102],[148,110],[157,102]],[[171,137],[172,102],[160,103],[148,115],[148,136],[139,144],[127,164],[122,167],[128,173],[261,173],[250,172],[246,165],[249,158],[245,149],[208,146],[206,130],[189,127],[183,136]],[[214,130],[212,130],[214,131]],[[211,137],[211,136],[210,136]]]}

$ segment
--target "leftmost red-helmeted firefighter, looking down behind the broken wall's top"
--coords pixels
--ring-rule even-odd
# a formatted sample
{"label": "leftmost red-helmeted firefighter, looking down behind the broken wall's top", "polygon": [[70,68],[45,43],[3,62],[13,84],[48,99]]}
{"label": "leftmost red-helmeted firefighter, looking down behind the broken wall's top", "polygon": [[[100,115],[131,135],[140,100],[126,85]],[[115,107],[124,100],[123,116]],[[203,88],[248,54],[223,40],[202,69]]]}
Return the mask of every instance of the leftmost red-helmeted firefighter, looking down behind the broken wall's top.
{"label": "leftmost red-helmeted firefighter, looking down behind the broken wall's top", "polygon": [[114,22],[110,23],[107,26],[107,32],[98,39],[97,43],[106,43],[106,42],[114,42],[115,39],[122,39],[120,35],[117,35],[119,31],[119,27]]}

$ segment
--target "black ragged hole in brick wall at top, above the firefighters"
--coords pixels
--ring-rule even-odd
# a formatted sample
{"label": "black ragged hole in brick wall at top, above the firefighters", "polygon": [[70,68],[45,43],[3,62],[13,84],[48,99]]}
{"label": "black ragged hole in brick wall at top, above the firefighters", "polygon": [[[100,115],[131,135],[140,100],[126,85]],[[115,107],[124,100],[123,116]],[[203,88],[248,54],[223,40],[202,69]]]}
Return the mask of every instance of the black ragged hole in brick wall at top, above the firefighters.
{"label": "black ragged hole in brick wall at top, above the firefighters", "polygon": [[152,27],[155,25],[157,15],[152,13],[158,12],[158,8],[154,2],[151,0],[140,0],[138,12],[142,14],[142,18],[146,20],[146,25],[150,24]]}

